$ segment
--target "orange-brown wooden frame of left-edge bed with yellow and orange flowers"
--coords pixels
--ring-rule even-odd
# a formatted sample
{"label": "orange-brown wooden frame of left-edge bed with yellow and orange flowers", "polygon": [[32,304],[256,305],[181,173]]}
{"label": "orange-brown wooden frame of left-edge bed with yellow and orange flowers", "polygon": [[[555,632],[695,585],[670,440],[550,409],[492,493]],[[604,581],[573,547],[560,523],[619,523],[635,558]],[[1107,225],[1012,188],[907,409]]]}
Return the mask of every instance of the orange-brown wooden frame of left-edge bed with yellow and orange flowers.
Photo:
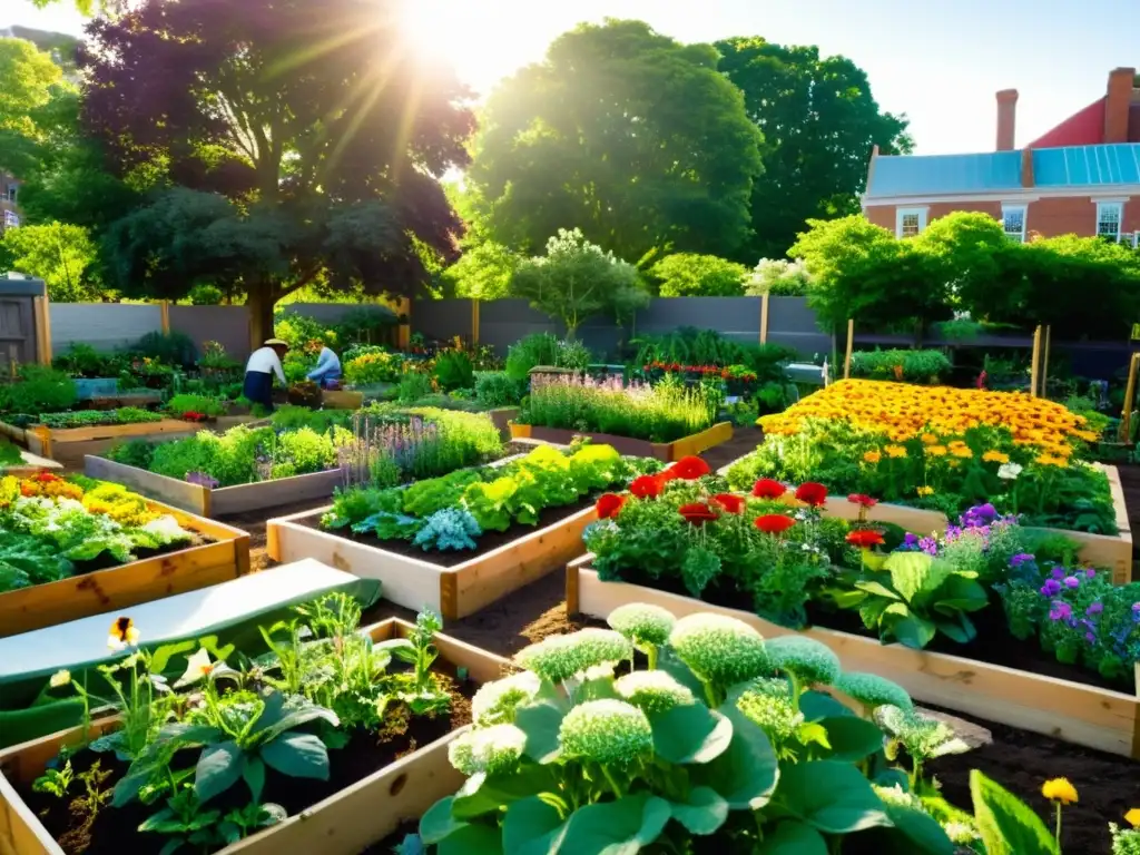
{"label": "orange-brown wooden frame of left-edge bed with yellow and orange flowers", "polygon": [[120,611],[197,591],[250,572],[250,536],[239,529],[152,502],[214,543],[0,594],[0,637]]}

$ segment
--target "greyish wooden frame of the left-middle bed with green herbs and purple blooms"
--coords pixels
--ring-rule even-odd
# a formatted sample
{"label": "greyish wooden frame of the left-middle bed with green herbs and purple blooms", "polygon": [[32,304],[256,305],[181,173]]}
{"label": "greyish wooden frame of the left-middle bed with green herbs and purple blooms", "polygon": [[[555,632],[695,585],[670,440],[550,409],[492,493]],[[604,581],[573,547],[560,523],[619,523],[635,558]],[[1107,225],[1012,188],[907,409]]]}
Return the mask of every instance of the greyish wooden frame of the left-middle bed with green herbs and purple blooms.
{"label": "greyish wooden frame of the left-middle bed with green herbs and purple blooms", "polygon": [[144,496],[160,499],[193,514],[215,519],[294,502],[327,499],[333,495],[333,490],[344,482],[344,477],[337,469],[211,490],[209,487],[91,455],[83,458],[83,473],[89,478],[121,483]]}

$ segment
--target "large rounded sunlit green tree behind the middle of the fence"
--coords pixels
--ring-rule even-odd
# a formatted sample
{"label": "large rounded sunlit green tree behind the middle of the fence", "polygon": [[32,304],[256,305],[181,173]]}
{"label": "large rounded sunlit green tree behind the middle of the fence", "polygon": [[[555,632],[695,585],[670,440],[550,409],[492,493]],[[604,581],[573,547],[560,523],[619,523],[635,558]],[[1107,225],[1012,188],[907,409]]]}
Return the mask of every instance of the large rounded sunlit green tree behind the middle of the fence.
{"label": "large rounded sunlit green tree behind the middle of the fence", "polygon": [[560,228],[644,266],[749,237],[762,135],[707,44],[637,21],[583,24],[503,81],[469,180],[490,236],[538,252]]}

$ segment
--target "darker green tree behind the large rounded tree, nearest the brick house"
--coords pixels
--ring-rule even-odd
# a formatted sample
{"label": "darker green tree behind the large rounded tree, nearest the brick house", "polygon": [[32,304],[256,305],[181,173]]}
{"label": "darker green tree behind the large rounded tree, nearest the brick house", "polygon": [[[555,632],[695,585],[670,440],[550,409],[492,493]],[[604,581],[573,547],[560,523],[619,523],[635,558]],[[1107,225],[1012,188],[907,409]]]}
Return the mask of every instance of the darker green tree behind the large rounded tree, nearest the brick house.
{"label": "darker green tree behind the large rounded tree, nearest the brick house", "polygon": [[808,219],[856,213],[871,149],[907,153],[905,116],[885,113],[866,73],[815,47],[784,47],[759,38],[716,43],[719,68],[744,93],[748,115],[764,132],[764,173],[752,186],[755,236],[741,261],[780,258]]}

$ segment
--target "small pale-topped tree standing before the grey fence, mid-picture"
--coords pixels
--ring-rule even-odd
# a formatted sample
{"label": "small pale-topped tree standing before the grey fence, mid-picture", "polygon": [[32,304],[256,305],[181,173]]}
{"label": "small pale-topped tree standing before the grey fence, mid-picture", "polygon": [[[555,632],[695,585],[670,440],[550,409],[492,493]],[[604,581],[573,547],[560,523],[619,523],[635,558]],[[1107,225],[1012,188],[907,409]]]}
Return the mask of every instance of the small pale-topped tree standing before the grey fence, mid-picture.
{"label": "small pale-topped tree standing before the grey fence, mid-picture", "polygon": [[561,320],[571,339],[593,315],[611,311],[620,321],[649,304],[637,268],[586,241],[580,229],[559,229],[545,255],[519,264],[511,295]]}

